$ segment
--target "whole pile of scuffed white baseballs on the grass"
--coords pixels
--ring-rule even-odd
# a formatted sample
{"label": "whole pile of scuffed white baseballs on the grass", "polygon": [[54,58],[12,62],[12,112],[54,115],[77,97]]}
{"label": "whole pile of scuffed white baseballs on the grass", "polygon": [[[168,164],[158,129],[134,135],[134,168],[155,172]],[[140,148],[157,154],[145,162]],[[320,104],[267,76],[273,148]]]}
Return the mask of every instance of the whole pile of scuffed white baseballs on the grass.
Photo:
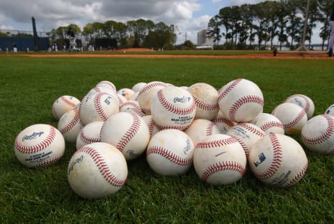
{"label": "whole pile of scuffed white baseballs on the grass", "polygon": [[208,184],[232,184],[248,165],[257,180],[278,187],[299,182],[308,168],[304,148],[334,155],[334,105],[312,117],[303,94],[263,112],[260,87],[239,78],[215,89],[207,83],[176,87],[160,81],[116,89],[101,81],[79,101],[61,96],[52,113],[58,127],[35,124],[15,139],[15,155],[28,167],[53,164],[65,142],[76,144],[67,180],[83,198],[116,193],[127,181],[127,162],[145,155],[159,175],[191,169]]}

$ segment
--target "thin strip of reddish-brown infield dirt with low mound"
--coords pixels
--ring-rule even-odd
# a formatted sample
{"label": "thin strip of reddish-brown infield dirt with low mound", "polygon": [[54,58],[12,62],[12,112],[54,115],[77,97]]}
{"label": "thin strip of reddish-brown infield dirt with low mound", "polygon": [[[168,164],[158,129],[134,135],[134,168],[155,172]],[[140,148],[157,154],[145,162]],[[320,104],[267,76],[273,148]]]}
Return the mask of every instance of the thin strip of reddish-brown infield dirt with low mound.
{"label": "thin strip of reddish-brown infield dirt with low mound", "polygon": [[[15,54],[28,57],[38,57],[38,58],[298,58],[298,59],[331,59],[326,55],[326,51],[309,51],[299,53],[296,51],[285,51],[284,53],[278,52],[276,56],[273,53],[254,53],[254,54],[244,54],[244,55],[180,55],[180,54],[136,54],[136,52],[154,52],[151,49],[122,49],[113,52],[117,53],[48,53],[48,54]],[[13,55],[13,54],[10,54]],[[334,57],[333,57],[334,58]]]}

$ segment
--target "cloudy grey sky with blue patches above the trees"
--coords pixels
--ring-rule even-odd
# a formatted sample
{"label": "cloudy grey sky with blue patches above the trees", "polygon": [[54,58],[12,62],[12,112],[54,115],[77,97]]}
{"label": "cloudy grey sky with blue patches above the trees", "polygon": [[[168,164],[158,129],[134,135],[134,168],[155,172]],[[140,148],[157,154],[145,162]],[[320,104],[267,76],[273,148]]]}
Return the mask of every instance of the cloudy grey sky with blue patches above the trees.
{"label": "cloudy grey sky with blue patches above the trees", "polygon": [[126,22],[150,19],[177,26],[177,44],[197,44],[198,31],[207,28],[219,9],[264,0],[0,0],[0,29],[32,31],[31,17],[38,32],[77,24],[108,20]]}

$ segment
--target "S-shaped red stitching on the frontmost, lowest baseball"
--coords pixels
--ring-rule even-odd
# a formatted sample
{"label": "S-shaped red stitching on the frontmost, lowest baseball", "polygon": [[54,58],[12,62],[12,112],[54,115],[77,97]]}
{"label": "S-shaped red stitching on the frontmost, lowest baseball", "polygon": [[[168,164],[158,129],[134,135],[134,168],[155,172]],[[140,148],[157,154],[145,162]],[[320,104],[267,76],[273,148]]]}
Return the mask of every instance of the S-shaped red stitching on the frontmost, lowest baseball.
{"label": "S-shaped red stitching on the frontmost, lowest baseball", "polygon": [[125,178],[125,180],[120,180],[115,175],[113,175],[113,173],[111,173],[102,155],[97,150],[95,150],[95,148],[84,146],[77,150],[74,155],[77,155],[78,153],[87,153],[90,155],[90,157],[94,160],[95,165],[100,170],[104,180],[109,182],[109,184],[113,185],[114,187],[122,187],[122,185],[127,181],[127,178]]}

